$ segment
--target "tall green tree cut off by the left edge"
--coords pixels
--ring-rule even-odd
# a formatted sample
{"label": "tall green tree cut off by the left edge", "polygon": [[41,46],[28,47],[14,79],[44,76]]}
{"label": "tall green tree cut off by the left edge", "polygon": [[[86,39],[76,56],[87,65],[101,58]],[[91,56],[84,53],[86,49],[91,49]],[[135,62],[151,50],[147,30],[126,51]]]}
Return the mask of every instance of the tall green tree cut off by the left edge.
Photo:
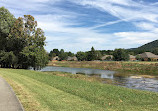
{"label": "tall green tree cut off by the left edge", "polygon": [[[15,62],[15,55],[9,52],[7,46],[7,37],[10,33],[11,27],[16,19],[4,7],[0,8],[0,64],[1,67],[11,67]],[[10,65],[9,65],[10,64]]]}

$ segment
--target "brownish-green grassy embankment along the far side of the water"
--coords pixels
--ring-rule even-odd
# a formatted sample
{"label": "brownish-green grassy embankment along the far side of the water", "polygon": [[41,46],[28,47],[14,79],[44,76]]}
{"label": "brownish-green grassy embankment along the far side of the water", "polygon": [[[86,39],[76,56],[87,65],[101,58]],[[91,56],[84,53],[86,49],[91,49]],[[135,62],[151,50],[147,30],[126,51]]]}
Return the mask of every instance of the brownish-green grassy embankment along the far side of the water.
{"label": "brownish-green grassy embankment along the far side of the water", "polygon": [[158,74],[158,62],[56,61],[50,62],[48,65],[115,70],[123,72],[140,73],[145,75]]}

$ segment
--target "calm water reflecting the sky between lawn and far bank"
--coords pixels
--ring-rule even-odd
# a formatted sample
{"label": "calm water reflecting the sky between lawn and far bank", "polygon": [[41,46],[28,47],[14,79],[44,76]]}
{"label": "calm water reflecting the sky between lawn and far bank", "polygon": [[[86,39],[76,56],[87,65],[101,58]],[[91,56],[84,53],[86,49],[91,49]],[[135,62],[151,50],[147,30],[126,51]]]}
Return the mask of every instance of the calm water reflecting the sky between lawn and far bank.
{"label": "calm water reflecting the sky between lawn and far bank", "polygon": [[[72,74],[85,74],[96,78],[102,78],[102,83],[110,83],[140,90],[148,90],[158,92],[158,78],[137,77],[136,74],[128,74],[128,76],[119,75],[115,71],[89,69],[89,68],[69,68],[69,67],[53,67],[47,66],[41,71],[59,71]],[[133,76],[134,75],[134,76]]]}

